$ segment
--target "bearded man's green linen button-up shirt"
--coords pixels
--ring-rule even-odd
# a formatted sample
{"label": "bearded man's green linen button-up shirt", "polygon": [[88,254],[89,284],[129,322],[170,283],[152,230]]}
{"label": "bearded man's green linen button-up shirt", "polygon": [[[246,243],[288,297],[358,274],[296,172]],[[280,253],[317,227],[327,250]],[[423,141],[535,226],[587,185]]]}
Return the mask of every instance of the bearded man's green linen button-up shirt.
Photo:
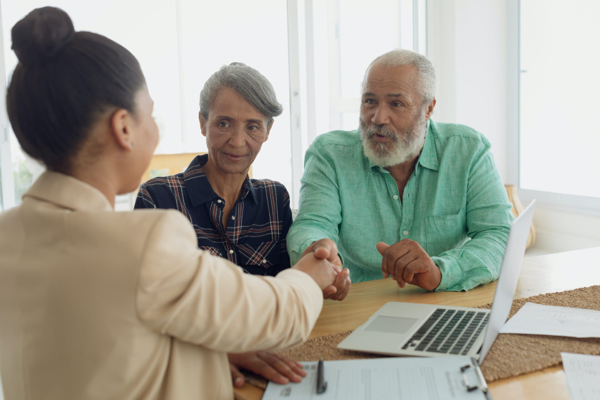
{"label": "bearded man's green linen button-up shirt", "polygon": [[376,243],[409,238],[440,267],[436,290],[469,290],[498,277],[512,205],[490,142],[472,128],[428,122],[402,199],[390,173],[365,157],[358,131],[317,137],[301,182],[298,216],[287,234],[292,264],[328,237],[352,282],[380,279]]}

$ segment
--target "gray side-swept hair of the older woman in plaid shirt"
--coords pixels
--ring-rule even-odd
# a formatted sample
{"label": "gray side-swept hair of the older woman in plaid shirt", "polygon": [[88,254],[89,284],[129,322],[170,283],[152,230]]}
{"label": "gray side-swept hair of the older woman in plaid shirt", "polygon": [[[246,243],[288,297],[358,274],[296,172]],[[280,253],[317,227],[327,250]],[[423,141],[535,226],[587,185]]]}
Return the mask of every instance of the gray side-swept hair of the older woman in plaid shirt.
{"label": "gray side-swept hair of the older woman in plaid shirt", "polygon": [[218,92],[223,88],[231,88],[241,95],[252,107],[268,119],[268,126],[273,119],[281,115],[283,106],[277,101],[273,85],[259,71],[241,62],[223,65],[211,75],[200,91],[200,112],[208,121],[208,112]]}

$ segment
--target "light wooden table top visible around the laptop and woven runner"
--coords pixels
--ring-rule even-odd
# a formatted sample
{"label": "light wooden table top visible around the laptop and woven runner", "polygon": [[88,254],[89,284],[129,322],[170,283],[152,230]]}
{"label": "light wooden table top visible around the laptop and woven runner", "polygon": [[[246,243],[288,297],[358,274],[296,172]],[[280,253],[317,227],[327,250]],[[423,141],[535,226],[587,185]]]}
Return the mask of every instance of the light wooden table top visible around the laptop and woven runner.
{"label": "light wooden table top visible around the laptop and woven runner", "polygon": [[[515,299],[591,285],[600,285],[600,247],[525,258]],[[413,285],[399,288],[392,279],[355,283],[345,300],[325,300],[310,337],[355,329],[390,301],[471,307],[490,303],[495,290],[496,282],[466,292],[425,291]],[[489,386],[494,400],[569,399],[562,366]],[[262,393],[250,384],[235,390],[239,400],[259,400]]]}

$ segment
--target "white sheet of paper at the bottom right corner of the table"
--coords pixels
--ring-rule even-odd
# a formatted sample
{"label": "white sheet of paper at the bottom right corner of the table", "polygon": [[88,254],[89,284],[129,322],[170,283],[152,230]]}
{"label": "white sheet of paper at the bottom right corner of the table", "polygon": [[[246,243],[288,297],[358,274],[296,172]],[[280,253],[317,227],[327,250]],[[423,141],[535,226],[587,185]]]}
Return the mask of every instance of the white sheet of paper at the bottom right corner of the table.
{"label": "white sheet of paper at the bottom right corner of the table", "polygon": [[600,356],[560,353],[571,400],[600,399]]}

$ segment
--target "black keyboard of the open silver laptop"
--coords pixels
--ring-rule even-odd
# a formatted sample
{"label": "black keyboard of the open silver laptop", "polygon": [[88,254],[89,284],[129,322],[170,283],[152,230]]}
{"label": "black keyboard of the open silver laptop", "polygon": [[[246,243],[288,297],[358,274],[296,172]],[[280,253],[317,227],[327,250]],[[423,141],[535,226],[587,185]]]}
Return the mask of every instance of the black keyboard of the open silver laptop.
{"label": "black keyboard of the open silver laptop", "polygon": [[486,312],[438,308],[402,348],[464,355],[489,319]]}

